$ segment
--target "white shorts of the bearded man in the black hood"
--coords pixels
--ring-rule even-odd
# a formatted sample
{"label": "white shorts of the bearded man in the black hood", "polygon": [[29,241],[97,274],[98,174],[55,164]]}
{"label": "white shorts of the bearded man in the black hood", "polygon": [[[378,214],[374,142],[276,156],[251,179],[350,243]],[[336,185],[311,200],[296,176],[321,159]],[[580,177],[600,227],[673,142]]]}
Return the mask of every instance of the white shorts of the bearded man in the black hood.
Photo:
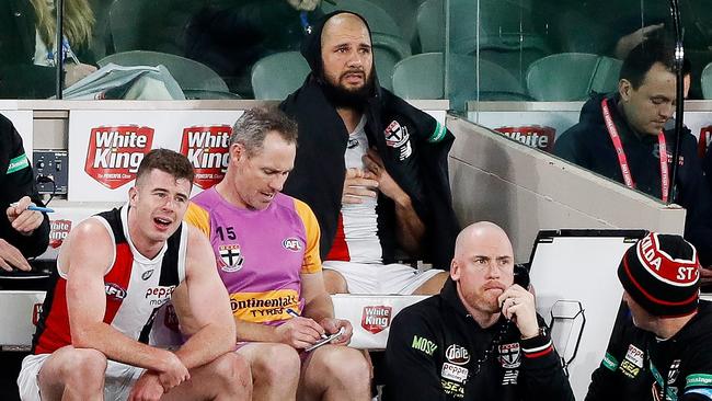
{"label": "white shorts of the bearded man in the black hood", "polygon": [[444,272],[437,268],[418,271],[399,263],[326,261],[322,266],[341,273],[346,279],[349,294],[369,295],[411,295],[433,276]]}

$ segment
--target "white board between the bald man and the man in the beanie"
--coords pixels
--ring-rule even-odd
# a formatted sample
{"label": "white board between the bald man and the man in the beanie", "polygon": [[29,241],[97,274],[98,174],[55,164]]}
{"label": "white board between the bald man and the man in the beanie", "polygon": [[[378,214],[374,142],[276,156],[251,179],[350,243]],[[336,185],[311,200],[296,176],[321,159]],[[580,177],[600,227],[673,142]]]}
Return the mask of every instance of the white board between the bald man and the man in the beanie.
{"label": "white board between the bald man and the man in the beanie", "polygon": [[[606,353],[623,294],[616,271],[632,242],[624,237],[554,237],[537,243],[531,261],[537,311],[549,321],[558,301],[570,301],[581,302],[585,313],[576,357],[569,366],[569,381],[576,400],[584,399],[590,374]],[[564,333],[554,326],[552,337],[560,356],[573,355],[576,333]]]}

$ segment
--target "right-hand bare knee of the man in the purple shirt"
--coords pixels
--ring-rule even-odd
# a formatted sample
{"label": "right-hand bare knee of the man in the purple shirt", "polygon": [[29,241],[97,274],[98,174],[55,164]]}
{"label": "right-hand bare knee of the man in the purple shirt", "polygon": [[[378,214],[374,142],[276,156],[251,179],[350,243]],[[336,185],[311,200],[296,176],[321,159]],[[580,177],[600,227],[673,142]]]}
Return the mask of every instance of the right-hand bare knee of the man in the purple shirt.
{"label": "right-hand bare knee of the man in the purple shirt", "polygon": [[360,351],[324,345],[301,366],[297,399],[367,401],[371,399],[370,368]]}

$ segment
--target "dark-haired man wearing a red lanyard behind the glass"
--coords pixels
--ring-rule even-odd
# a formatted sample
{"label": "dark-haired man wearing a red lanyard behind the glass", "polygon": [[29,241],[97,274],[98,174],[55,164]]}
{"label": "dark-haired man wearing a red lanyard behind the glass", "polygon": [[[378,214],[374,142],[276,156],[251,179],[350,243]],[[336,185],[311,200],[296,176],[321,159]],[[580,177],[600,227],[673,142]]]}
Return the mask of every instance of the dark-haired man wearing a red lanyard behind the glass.
{"label": "dark-haired man wearing a red lanyard behind the glass", "polygon": [[[704,182],[694,137],[680,133],[680,157],[670,183],[675,134],[664,130],[676,103],[674,47],[650,38],[623,61],[618,92],[594,95],[578,124],[562,134],[554,153],[631,188],[676,203],[687,209],[685,238],[700,253],[702,266],[712,264],[712,200]],[[673,185],[674,198],[668,198]],[[702,284],[712,271],[702,268]]]}

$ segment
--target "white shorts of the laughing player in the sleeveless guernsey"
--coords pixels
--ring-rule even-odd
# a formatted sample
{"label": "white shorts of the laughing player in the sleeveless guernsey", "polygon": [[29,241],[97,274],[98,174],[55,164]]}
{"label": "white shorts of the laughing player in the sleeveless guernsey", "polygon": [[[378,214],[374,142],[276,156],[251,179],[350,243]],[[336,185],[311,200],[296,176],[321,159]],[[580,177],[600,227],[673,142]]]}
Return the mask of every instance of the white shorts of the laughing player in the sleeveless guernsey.
{"label": "white shorts of the laughing player in the sleeveless guernsey", "polygon": [[[22,359],[22,368],[18,376],[18,388],[22,401],[41,401],[39,369],[51,354],[27,355]],[[104,381],[104,400],[126,400],[134,383],[143,374],[143,368],[108,360]]]}

